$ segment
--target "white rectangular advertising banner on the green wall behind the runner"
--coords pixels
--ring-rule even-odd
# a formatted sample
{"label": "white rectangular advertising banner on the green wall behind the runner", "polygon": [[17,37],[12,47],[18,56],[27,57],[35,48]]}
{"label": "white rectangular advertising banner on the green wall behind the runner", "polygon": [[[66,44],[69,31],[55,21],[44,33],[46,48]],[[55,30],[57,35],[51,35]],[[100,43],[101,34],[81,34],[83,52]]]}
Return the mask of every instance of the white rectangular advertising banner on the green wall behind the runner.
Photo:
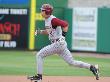
{"label": "white rectangular advertising banner on the green wall behind the runner", "polygon": [[97,8],[74,8],[72,49],[96,51]]}

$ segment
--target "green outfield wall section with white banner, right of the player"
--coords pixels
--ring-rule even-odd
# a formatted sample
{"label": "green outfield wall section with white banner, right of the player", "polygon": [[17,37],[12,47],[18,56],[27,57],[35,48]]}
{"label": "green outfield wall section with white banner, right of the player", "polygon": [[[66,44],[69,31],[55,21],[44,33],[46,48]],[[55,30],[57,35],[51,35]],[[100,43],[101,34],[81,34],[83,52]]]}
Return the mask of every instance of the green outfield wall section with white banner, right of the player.
{"label": "green outfield wall section with white banner, right of the player", "polygon": [[77,7],[65,12],[71,50],[110,53],[110,8]]}

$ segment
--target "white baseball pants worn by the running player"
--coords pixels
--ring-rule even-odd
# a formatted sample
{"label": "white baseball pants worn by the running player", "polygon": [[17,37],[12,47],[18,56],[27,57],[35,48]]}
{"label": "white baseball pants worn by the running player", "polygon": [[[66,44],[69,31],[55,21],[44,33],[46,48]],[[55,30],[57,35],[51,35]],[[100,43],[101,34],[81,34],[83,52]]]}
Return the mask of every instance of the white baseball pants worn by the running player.
{"label": "white baseball pants worn by the running player", "polygon": [[52,43],[44,48],[42,48],[37,54],[37,72],[38,74],[43,74],[43,58],[49,55],[58,54],[60,57],[64,59],[69,65],[80,67],[80,68],[90,68],[91,64],[76,61],[73,59],[72,54],[67,48],[66,41],[57,41]]}

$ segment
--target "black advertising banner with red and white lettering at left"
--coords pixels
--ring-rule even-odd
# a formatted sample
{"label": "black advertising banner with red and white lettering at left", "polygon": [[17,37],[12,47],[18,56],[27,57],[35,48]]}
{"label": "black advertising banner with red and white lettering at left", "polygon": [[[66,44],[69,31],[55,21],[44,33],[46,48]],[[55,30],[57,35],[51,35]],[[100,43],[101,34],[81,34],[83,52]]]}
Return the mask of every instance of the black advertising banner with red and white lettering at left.
{"label": "black advertising banner with red and white lettering at left", "polygon": [[27,48],[28,22],[28,9],[0,8],[0,49]]}

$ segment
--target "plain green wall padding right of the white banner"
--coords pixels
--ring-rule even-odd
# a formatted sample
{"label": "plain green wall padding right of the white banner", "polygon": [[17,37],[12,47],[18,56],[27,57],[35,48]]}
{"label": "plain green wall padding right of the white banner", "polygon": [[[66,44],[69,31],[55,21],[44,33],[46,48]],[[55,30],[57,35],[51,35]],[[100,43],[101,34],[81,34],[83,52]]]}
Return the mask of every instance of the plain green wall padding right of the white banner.
{"label": "plain green wall padding right of the white banner", "polygon": [[98,9],[97,51],[110,53],[110,8]]}

